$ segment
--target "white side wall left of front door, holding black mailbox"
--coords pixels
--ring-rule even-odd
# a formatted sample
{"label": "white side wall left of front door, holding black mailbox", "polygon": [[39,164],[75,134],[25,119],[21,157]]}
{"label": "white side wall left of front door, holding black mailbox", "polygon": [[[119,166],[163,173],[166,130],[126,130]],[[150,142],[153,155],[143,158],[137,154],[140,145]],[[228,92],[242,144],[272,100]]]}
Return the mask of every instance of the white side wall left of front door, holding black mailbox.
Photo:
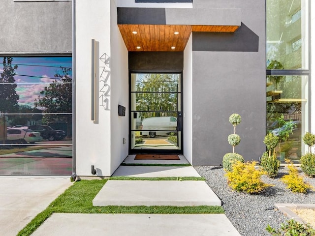
{"label": "white side wall left of front door, holding black mailbox", "polygon": [[[128,155],[129,84],[128,51],[117,26],[117,6],[111,0],[111,172],[119,167]],[[118,116],[118,105],[126,107],[126,116]],[[124,139],[126,142],[124,143]]]}

